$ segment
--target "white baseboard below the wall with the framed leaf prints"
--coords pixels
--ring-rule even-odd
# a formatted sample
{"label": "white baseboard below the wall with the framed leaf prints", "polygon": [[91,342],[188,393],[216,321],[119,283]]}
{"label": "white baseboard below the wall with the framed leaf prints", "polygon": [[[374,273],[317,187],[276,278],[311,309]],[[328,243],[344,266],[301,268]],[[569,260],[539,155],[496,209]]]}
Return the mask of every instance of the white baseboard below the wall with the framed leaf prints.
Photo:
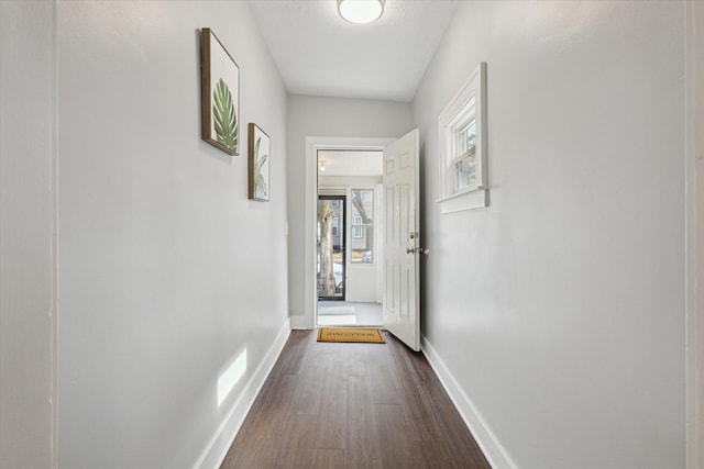
{"label": "white baseboard below the wall with the framed leaf prints", "polygon": [[208,446],[202,451],[194,468],[198,469],[217,469],[220,467],[224,457],[228,455],[232,442],[237,436],[246,414],[250,412],[254,400],[262,390],[264,381],[272,372],[276,359],[280,355],[286,340],[290,334],[290,321],[286,320],[282,326],[279,333],[276,335],[274,343],[266,351],[264,359],[258,367],[252,373],[252,377],[244,386],[242,393],[238,398],[237,402],[232,404],[232,409],[228,412],[228,415],[222,421],[222,424],[218,427]]}

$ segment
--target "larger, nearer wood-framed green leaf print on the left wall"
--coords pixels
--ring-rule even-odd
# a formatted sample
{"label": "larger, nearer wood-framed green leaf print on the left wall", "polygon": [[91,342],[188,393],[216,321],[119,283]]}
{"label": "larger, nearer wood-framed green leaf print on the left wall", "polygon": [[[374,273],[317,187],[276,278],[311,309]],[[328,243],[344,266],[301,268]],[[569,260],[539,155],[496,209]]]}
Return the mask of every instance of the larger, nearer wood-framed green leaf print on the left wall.
{"label": "larger, nearer wood-framed green leaf print on the left wall", "polygon": [[202,139],[240,154],[240,67],[210,27],[200,30]]}

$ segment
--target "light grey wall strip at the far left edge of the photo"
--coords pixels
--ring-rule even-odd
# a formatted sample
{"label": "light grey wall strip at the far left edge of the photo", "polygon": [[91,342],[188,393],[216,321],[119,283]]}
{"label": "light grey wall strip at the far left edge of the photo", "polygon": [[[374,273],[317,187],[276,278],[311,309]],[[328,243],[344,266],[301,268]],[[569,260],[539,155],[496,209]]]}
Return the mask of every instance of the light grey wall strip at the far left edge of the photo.
{"label": "light grey wall strip at the far left edge of the photo", "polygon": [[56,462],[54,18],[50,0],[0,2],[2,468]]}

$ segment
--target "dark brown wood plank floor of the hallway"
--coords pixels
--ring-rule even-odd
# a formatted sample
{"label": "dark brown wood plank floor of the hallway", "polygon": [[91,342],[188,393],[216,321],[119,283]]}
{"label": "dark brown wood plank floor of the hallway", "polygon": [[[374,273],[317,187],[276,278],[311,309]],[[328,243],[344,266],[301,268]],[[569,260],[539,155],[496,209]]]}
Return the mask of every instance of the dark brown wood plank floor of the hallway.
{"label": "dark brown wood plank floor of the hallway", "polygon": [[293,331],[221,468],[491,468],[422,356]]}

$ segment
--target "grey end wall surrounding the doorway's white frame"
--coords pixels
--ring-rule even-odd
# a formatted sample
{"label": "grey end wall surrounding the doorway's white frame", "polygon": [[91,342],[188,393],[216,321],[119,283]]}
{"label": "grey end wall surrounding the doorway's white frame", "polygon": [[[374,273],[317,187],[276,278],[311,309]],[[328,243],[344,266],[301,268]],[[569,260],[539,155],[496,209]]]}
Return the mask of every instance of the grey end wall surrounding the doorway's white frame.
{"label": "grey end wall surrounding the doorway's white frame", "polygon": [[[341,141],[399,137],[410,130],[411,108],[410,103],[392,101],[290,96],[287,115],[288,309],[292,316],[310,317],[307,323],[312,325],[312,304],[306,304],[304,298],[307,244],[304,213],[310,206],[305,200],[306,137],[343,137]],[[315,166],[311,170],[316,170]]]}

